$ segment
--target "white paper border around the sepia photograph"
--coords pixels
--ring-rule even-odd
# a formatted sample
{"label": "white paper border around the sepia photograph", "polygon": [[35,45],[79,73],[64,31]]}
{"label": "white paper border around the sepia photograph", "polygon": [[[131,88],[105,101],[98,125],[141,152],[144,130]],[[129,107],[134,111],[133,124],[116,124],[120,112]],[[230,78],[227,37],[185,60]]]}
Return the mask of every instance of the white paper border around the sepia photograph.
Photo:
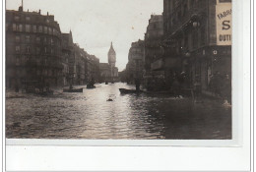
{"label": "white paper border around the sepia photograph", "polygon": [[[109,0],[110,1],[110,0]],[[250,150],[253,149],[254,140],[251,139],[251,135],[254,129],[253,105],[254,97],[251,97],[251,93],[254,93],[254,76],[251,73],[254,72],[254,63],[250,51],[251,40],[251,16],[248,14],[253,7],[253,0],[233,0],[233,8],[237,8],[238,13],[234,13],[237,16],[233,17],[233,23],[237,20],[237,28],[233,27],[233,40],[235,43],[232,45],[232,57],[237,56],[237,62],[233,63],[232,60],[232,73],[233,76],[237,76],[238,80],[233,81],[234,93],[233,98],[239,99],[234,101],[234,110],[241,112],[234,124],[238,123],[237,135],[241,136],[235,143],[227,144],[191,144],[189,140],[182,145],[182,143],[173,144],[168,143],[160,145],[138,143],[131,144],[137,146],[125,146],[127,144],[119,143],[104,143],[100,141],[92,141],[96,143],[63,143],[63,141],[50,141],[57,143],[43,143],[44,141],[30,141],[35,142],[34,145],[26,143],[19,143],[16,140],[7,140],[5,144],[5,58],[2,58],[2,162],[4,171],[251,171],[252,164],[250,163],[253,158],[253,154],[250,154]],[[2,24],[5,20],[5,2],[2,2]],[[234,10],[233,10],[234,11]],[[3,25],[4,26],[4,25]],[[4,27],[2,26],[2,43],[4,45]],[[253,31],[252,31],[253,32]],[[238,42],[237,42],[238,41]],[[251,41],[251,43],[254,42]],[[234,44],[237,48],[234,48]],[[5,54],[5,48],[2,46],[2,57]],[[241,48],[242,47],[242,48]],[[253,48],[252,48],[253,49]],[[242,58],[239,58],[242,57]],[[248,58],[247,58],[248,57]],[[249,58],[250,57],[250,58]],[[242,71],[242,72],[241,72]],[[242,84],[240,83],[242,81]],[[237,85],[235,85],[237,84]],[[234,91],[233,91],[234,92]],[[242,98],[241,98],[242,97]],[[249,98],[250,97],[250,98]],[[235,105],[235,102],[237,103]],[[236,109],[240,107],[241,109]],[[232,112],[234,111],[232,109]],[[232,121],[233,122],[233,121]],[[241,130],[242,129],[242,130]],[[232,128],[232,130],[234,130]],[[11,143],[9,143],[11,141]],[[41,143],[36,143],[41,142]],[[46,141],[47,142],[47,141]],[[59,142],[59,143],[58,143]],[[72,141],[71,141],[72,142]],[[75,141],[76,142],[76,141]],[[99,144],[97,144],[99,142]],[[104,142],[104,141],[103,141]],[[115,142],[115,141],[107,141]],[[121,141],[122,142],[122,141]],[[139,141],[143,142],[143,141]],[[148,143],[148,141],[145,141]],[[158,142],[158,141],[157,141]],[[173,141],[170,141],[173,142]],[[207,142],[207,141],[202,141]],[[212,142],[212,141],[211,141]],[[214,141],[215,142],[215,141]],[[217,141],[219,142],[219,141]],[[222,141],[220,141],[222,142]],[[20,145],[18,145],[18,144]],[[80,146],[78,146],[80,145]],[[93,146],[97,145],[97,146]],[[105,146],[112,145],[112,146]],[[114,146],[115,145],[115,146]],[[140,145],[140,146],[138,146]],[[179,146],[173,146],[179,145]],[[182,146],[180,146],[182,145]],[[185,146],[186,145],[186,146]],[[189,146],[188,146],[189,145]],[[193,146],[192,146],[193,145]],[[5,157],[6,156],[6,157]],[[5,168],[6,167],[6,168]]]}

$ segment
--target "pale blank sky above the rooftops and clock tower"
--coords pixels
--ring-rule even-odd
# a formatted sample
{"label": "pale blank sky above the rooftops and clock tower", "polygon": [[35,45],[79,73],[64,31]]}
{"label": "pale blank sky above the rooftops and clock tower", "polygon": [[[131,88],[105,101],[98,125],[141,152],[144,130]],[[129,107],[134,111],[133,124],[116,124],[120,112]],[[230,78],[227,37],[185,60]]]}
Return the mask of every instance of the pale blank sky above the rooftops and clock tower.
{"label": "pale blank sky above the rooftops and clock tower", "polygon": [[[131,43],[144,39],[152,14],[160,15],[163,0],[24,0],[24,11],[54,15],[61,32],[72,31],[74,43],[107,62],[111,41],[116,67],[125,69]],[[7,10],[18,10],[22,0],[6,0]]]}

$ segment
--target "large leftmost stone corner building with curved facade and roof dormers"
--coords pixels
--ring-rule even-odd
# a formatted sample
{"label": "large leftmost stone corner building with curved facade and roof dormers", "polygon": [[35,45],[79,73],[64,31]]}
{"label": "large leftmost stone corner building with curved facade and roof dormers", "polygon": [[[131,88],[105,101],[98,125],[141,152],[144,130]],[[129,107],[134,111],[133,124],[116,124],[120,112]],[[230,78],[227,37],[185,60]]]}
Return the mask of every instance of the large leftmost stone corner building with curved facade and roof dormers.
{"label": "large leftmost stone corner building with curved facade and roof dormers", "polygon": [[6,10],[6,86],[60,86],[61,32],[54,16]]}

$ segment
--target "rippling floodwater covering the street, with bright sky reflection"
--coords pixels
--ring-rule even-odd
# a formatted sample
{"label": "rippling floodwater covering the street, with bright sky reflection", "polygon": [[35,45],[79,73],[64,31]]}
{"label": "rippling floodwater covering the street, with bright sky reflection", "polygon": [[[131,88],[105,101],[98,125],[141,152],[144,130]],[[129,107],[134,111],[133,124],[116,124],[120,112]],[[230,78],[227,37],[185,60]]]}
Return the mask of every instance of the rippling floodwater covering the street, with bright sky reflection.
{"label": "rippling floodwater covering the street, with bright sky reflection", "polygon": [[[83,87],[83,86],[79,86]],[[85,86],[84,86],[85,87]],[[220,100],[120,94],[126,84],[39,96],[6,92],[6,137],[16,139],[231,139],[231,108]],[[111,98],[113,101],[106,101]]]}

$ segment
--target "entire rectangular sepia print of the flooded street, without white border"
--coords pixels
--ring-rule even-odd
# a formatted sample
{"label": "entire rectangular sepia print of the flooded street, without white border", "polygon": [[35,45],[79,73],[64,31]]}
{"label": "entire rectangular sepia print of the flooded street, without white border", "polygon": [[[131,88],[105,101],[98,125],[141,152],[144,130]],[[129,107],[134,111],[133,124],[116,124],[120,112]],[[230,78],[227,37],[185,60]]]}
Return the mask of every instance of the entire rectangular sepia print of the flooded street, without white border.
{"label": "entire rectangular sepia print of the flooded street, without white border", "polygon": [[7,0],[6,137],[231,140],[231,14],[231,0]]}

